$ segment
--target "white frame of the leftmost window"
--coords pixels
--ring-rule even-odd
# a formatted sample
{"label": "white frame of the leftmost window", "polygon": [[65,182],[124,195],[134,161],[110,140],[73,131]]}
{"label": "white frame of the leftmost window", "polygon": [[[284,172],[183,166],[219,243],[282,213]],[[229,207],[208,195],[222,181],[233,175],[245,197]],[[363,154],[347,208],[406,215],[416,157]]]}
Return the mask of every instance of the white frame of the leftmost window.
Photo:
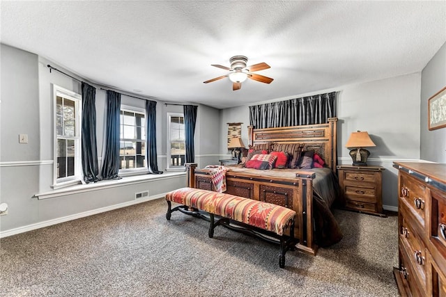
{"label": "white frame of the leftmost window", "polygon": [[[56,84],[52,84],[53,90],[53,185],[52,188],[60,188],[82,182],[82,95],[75,93]],[[57,97],[63,97],[75,102],[75,136],[61,136],[57,134]],[[72,139],[75,141],[75,174],[70,177],[57,177],[57,141],[59,139]]]}

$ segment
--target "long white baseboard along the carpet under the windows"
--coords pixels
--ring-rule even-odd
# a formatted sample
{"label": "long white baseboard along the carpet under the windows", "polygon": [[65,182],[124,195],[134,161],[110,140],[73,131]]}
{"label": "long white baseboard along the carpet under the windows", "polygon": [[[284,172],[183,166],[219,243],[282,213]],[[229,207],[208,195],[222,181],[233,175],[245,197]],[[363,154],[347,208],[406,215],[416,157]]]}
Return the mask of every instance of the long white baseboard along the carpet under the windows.
{"label": "long white baseboard along the carpet under the windows", "polygon": [[64,223],[64,222],[68,222],[69,220],[76,220],[77,218],[85,218],[86,216],[93,216],[94,214],[100,214],[100,213],[105,212],[105,211],[111,211],[111,210],[114,210],[114,209],[119,209],[119,208],[123,208],[123,207],[129,207],[130,205],[139,204],[139,203],[142,203],[142,202],[147,202],[147,201],[151,201],[151,200],[160,199],[160,198],[163,198],[164,195],[166,195],[166,193],[153,195],[151,197],[144,198],[144,199],[137,199],[137,200],[131,200],[131,201],[127,201],[127,202],[123,202],[123,203],[119,203],[119,204],[114,204],[114,205],[110,205],[108,207],[101,207],[99,209],[93,209],[93,210],[89,210],[89,211],[84,211],[84,212],[79,213],[79,214],[72,214],[70,216],[63,216],[61,218],[54,218],[52,220],[45,220],[44,222],[35,223],[35,224],[31,224],[31,225],[26,225],[26,226],[14,228],[14,229],[11,229],[11,230],[6,230],[6,231],[3,231],[3,232],[0,232],[0,239],[3,238],[3,237],[8,237],[8,236],[12,236],[12,235],[16,235],[16,234],[20,234],[20,233],[24,233],[24,232],[36,230],[36,229],[40,229],[40,228],[43,228],[43,227],[48,227],[48,226],[52,226],[52,225],[56,225],[56,224],[60,224],[60,223]]}

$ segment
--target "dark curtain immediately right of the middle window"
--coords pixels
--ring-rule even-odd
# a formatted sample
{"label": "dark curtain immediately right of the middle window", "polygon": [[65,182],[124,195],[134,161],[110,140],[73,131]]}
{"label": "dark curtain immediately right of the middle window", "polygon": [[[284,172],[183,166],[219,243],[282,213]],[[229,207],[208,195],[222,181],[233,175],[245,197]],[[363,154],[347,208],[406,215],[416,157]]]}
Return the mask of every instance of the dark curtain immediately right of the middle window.
{"label": "dark curtain immediately right of the middle window", "polygon": [[161,174],[162,171],[158,170],[158,161],[156,153],[156,102],[146,101],[146,117],[147,117],[147,167],[148,171],[154,174]]}

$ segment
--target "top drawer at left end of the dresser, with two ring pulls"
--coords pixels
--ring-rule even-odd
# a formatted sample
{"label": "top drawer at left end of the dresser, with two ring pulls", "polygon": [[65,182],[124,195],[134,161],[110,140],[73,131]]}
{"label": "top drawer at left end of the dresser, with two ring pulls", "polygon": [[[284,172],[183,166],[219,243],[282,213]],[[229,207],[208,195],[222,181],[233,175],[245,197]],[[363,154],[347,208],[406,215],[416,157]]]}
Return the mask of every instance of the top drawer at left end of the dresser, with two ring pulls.
{"label": "top drawer at left end of the dresser, with two ring pulls", "polygon": [[424,226],[426,186],[406,173],[402,173],[400,179],[399,195],[408,202],[410,209],[422,218],[422,225]]}

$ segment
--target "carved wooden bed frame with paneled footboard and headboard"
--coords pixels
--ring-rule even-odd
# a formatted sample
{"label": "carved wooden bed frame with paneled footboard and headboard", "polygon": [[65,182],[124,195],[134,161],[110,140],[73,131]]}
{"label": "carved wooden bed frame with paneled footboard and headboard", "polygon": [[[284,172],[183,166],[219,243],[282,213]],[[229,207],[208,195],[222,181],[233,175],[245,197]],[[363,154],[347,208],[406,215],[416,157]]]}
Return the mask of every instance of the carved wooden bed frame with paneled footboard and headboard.
{"label": "carved wooden bed frame with paneled footboard and headboard", "polygon": [[[268,143],[305,143],[305,150],[318,152],[328,168],[336,172],[337,165],[337,118],[329,118],[327,124],[254,129],[248,127],[249,145]],[[197,164],[187,163],[187,186],[214,190],[209,170],[197,169]],[[231,166],[229,166],[231,168]],[[276,169],[275,169],[276,170]],[[277,169],[284,170],[284,169]],[[290,172],[291,169],[286,169]],[[277,177],[273,170],[254,170],[244,172],[236,170],[226,172],[226,192],[254,200],[261,200],[293,209],[297,213],[295,222],[295,238],[299,240],[298,250],[316,255],[317,244],[315,233],[317,221],[325,220],[327,212],[316,214],[314,202],[314,170],[292,170],[291,175]],[[316,204],[320,205],[317,200]],[[331,204],[325,207],[330,209]],[[330,210],[328,210],[330,212]],[[330,212],[330,214],[331,212]],[[331,220],[332,221],[332,220]],[[332,221],[333,222],[333,221]],[[330,222],[328,222],[330,223]],[[336,222],[333,222],[336,224]],[[316,225],[315,225],[316,224]],[[317,231],[317,230],[316,230]],[[327,233],[327,230],[324,231]],[[328,232],[331,232],[330,230]],[[340,235],[341,236],[341,235]],[[339,236],[338,236],[339,237]],[[337,241],[339,239],[335,239]]]}

